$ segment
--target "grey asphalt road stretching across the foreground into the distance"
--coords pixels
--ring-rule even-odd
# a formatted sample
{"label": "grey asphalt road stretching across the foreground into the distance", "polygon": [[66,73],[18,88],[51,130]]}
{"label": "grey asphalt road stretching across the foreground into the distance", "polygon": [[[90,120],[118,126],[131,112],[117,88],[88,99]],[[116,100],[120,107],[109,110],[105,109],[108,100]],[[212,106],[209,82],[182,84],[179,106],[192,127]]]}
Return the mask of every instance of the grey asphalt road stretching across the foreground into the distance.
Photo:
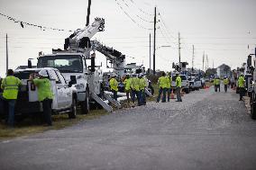
{"label": "grey asphalt road stretching across the foreground into the distance", "polygon": [[0,141],[0,169],[256,169],[256,121],[238,94],[193,92],[65,130]]}

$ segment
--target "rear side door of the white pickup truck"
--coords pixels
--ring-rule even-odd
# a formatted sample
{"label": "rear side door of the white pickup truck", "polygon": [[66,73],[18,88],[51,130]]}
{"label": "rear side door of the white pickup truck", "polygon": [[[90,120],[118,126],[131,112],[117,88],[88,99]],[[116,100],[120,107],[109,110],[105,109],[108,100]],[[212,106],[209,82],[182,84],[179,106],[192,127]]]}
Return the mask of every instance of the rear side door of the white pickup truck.
{"label": "rear side door of the white pickup truck", "polygon": [[55,94],[55,97],[57,98],[58,101],[58,109],[63,109],[66,108],[65,106],[65,95],[64,95],[64,85],[61,84],[59,77],[56,75],[54,70],[49,70],[50,76],[53,80],[56,82],[56,88],[57,92]]}

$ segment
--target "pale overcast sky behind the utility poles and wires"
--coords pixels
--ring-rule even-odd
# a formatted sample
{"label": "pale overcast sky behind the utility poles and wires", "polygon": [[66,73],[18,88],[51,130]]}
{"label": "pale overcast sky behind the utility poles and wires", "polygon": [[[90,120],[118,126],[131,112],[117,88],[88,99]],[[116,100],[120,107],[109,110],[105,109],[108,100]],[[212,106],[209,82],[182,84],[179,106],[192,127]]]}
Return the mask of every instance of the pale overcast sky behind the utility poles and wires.
{"label": "pale overcast sky behind the utility poles and wires", "polygon": [[[203,68],[203,54],[208,67],[227,64],[242,66],[256,47],[256,0],[92,0],[90,23],[95,17],[105,19],[105,31],[92,40],[100,40],[126,55],[126,63],[150,67],[153,41],[153,14],[157,7],[156,69],[169,71],[178,62],[178,32],[181,61]],[[18,21],[65,31],[53,31],[24,25],[0,15],[0,76],[5,76],[5,36],[8,35],[9,68],[26,65],[39,51],[63,49],[71,31],[84,28],[87,0],[0,0],[0,13]],[[248,48],[249,47],[249,48]],[[152,60],[152,59],[151,59]],[[36,60],[33,61],[34,64]],[[105,57],[96,54],[96,62]],[[152,62],[151,62],[152,68]]]}

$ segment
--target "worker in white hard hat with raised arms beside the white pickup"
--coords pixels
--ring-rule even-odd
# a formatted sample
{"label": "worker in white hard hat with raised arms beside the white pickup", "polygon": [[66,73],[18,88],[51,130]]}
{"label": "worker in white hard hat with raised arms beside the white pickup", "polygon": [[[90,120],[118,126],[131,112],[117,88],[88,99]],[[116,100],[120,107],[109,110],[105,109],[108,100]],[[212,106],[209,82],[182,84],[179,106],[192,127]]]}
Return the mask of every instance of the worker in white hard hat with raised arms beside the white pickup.
{"label": "worker in white hard hat with raised arms beside the white pickup", "polygon": [[41,69],[37,76],[34,78],[34,74],[30,75],[30,80],[38,89],[38,100],[42,103],[43,115],[48,126],[52,125],[51,121],[51,103],[53,94],[51,91],[50,80],[48,79],[48,73],[46,69]]}

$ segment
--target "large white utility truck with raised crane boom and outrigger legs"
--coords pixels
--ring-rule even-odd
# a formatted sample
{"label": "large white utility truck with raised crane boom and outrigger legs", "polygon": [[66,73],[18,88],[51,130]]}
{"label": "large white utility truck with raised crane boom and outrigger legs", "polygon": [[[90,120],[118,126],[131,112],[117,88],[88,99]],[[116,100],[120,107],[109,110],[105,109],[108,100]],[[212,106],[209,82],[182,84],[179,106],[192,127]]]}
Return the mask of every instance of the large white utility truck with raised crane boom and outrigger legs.
{"label": "large white utility truck with raised crane boom and outrigger legs", "polygon": [[[77,84],[74,86],[77,88],[78,103],[83,113],[89,112],[90,103],[99,103],[107,112],[113,111],[113,108],[103,100],[109,96],[104,96],[106,94],[103,91],[103,72],[99,66],[96,66],[95,50],[108,58],[111,58],[113,53],[98,41],[90,40],[97,31],[104,31],[104,29],[105,20],[96,18],[91,25],[75,31],[65,39],[64,50],[52,49],[52,54],[41,55],[38,58],[37,67],[56,67],[68,81],[70,76],[76,77]],[[87,60],[91,60],[90,65]],[[113,101],[109,100],[109,102]],[[115,102],[114,105],[116,105]]]}

